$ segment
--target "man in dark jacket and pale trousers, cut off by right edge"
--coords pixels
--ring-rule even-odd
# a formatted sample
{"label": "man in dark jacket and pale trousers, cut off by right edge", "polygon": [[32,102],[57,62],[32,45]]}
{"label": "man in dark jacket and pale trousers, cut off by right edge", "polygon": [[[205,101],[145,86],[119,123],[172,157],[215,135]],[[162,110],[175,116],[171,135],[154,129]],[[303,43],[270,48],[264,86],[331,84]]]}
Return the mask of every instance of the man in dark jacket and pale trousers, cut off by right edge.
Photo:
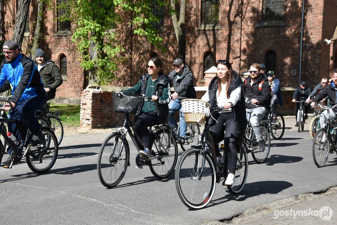
{"label": "man in dark jacket and pale trousers, cut off by right edge", "polygon": [[[315,106],[316,102],[322,101],[326,96],[329,97],[330,100],[330,105],[334,106],[337,104],[337,99],[336,99],[336,91],[337,91],[337,69],[334,69],[331,73],[331,78],[332,78],[332,83],[328,84],[323,90],[321,90],[316,97],[313,99],[312,103],[310,106]],[[335,119],[337,117],[336,115],[337,109],[334,108],[332,110],[325,110],[323,113],[320,114],[319,117],[319,123],[320,127],[324,128],[326,125],[326,120],[327,118],[330,119]]]}

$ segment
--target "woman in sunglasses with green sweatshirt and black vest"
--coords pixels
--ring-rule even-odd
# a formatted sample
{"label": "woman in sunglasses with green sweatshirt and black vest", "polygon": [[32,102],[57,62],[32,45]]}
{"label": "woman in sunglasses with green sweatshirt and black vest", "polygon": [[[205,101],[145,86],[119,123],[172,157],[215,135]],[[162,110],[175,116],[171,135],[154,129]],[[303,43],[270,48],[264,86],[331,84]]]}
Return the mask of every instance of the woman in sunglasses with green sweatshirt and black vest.
{"label": "woman in sunglasses with green sweatshirt and black vest", "polygon": [[158,57],[150,59],[147,65],[148,73],[139,78],[139,82],[124,91],[132,91],[142,96],[148,96],[151,101],[144,101],[139,107],[135,118],[134,128],[144,144],[144,150],[140,150],[141,156],[150,158],[150,131],[149,126],[168,122],[168,102],[170,102],[171,79],[163,74],[161,60]]}

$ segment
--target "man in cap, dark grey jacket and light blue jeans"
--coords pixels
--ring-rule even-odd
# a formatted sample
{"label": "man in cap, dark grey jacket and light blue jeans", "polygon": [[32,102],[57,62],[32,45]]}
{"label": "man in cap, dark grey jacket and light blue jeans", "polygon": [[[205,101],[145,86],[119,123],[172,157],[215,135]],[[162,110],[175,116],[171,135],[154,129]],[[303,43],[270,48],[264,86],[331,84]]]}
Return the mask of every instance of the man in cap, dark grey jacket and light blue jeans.
{"label": "man in cap, dark grey jacket and light blue jeans", "polygon": [[[185,142],[186,138],[186,122],[185,116],[181,108],[181,100],[183,99],[196,99],[196,92],[194,89],[193,74],[187,67],[184,65],[183,60],[175,59],[172,66],[174,71],[172,71],[168,76],[172,79],[174,93],[171,94],[171,101],[168,104],[169,109],[180,110],[179,112],[179,123],[180,123],[180,137],[178,140],[180,143]],[[174,115],[177,111],[170,111],[170,124],[174,125],[178,129],[178,124]]]}

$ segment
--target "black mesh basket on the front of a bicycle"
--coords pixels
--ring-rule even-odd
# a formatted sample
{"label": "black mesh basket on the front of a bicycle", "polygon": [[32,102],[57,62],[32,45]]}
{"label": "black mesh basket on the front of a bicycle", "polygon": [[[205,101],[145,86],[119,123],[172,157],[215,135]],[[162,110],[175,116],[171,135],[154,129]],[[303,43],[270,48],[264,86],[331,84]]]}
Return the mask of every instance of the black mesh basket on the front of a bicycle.
{"label": "black mesh basket on the front of a bicycle", "polygon": [[[122,92],[123,95],[118,96]],[[138,93],[131,91],[114,91],[112,93],[114,111],[120,113],[136,114],[138,107],[142,104]]]}

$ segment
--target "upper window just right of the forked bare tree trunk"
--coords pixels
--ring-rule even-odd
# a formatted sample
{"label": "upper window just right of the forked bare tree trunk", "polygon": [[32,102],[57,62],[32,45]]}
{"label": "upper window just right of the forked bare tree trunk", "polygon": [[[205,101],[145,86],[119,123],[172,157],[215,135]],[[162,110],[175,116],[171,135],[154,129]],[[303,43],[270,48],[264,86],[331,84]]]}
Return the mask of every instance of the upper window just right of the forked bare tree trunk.
{"label": "upper window just right of the forked bare tree trunk", "polygon": [[219,0],[201,1],[201,24],[217,24],[219,22]]}

